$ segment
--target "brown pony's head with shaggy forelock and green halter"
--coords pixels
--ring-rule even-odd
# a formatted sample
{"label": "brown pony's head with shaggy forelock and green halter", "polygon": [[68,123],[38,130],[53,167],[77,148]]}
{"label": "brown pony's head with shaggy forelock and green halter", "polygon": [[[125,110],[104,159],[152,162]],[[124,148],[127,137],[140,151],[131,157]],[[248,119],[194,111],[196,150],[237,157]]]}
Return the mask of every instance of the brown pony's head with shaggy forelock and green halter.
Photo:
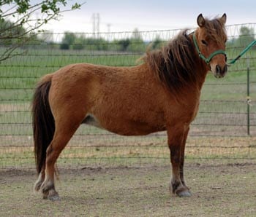
{"label": "brown pony's head with shaggy forelock and green halter", "polygon": [[226,14],[213,20],[208,20],[200,14],[197,17],[199,27],[193,35],[193,41],[200,58],[205,61],[217,78],[225,76],[227,72],[225,53],[225,43],[227,41],[226,20]]}

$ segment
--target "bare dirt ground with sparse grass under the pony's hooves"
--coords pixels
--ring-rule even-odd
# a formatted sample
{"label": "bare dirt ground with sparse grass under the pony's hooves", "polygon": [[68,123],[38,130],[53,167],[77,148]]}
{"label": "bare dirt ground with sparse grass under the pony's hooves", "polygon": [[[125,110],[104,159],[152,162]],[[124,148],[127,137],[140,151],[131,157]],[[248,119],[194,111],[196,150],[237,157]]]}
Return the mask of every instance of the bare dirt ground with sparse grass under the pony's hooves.
{"label": "bare dirt ground with sparse grass under the pony's hooves", "polygon": [[60,170],[61,201],[34,194],[31,170],[0,170],[0,216],[256,216],[256,164],[185,166],[192,197],[168,192],[169,167]]}

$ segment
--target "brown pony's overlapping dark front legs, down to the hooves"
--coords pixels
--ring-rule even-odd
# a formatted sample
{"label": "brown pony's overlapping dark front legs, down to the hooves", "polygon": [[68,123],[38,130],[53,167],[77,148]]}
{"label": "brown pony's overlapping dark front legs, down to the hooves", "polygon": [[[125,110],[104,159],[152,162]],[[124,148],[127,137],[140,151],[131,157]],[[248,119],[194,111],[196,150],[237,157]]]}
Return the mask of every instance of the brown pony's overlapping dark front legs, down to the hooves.
{"label": "brown pony's overlapping dark front legs, down to the hooves", "polygon": [[170,191],[180,197],[189,197],[191,193],[184,183],[184,142],[186,142],[188,127],[171,127],[167,130],[168,146],[170,149],[170,162],[172,166],[172,178]]}

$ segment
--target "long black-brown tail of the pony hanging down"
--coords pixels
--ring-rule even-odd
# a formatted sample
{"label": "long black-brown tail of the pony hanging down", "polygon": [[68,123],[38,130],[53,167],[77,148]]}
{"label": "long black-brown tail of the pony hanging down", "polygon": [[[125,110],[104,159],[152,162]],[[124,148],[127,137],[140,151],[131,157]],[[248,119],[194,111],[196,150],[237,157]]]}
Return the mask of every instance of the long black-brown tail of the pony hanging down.
{"label": "long black-brown tail of the pony hanging down", "polygon": [[34,156],[36,159],[37,173],[45,165],[46,149],[53,140],[55,122],[49,105],[49,90],[51,75],[45,76],[37,85],[32,102]]}

